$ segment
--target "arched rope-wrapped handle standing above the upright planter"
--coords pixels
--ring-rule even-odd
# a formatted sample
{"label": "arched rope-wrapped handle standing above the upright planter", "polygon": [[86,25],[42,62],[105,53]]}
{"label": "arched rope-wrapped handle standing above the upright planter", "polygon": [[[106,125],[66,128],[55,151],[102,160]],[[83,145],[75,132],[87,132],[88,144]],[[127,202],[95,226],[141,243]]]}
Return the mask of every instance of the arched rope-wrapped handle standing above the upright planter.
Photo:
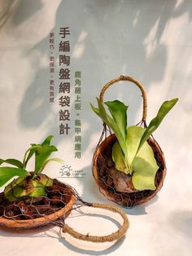
{"label": "arched rope-wrapped handle standing above the upright planter", "polygon": [[112,79],[110,82],[107,82],[106,85],[103,86],[103,89],[101,90],[101,93],[100,93],[100,100],[101,102],[103,103],[103,97],[104,97],[104,93],[105,91],[107,90],[107,88],[109,86],[111,86],[112,84],[114,84],[115,82],[120,82],[120,81],[129,81],[129,82],[133,82],[136,86],[139,87],[139,89],[142,91],[142,98],[143,98],[143,111],[142,111],[142,121],[143,122],[146,122],[146,111],[147,111],[147,99],[146,99],[146,92],[145,90],[143,89],[143,86],[137,82],[136,79],[132,78],[132,77],[127,77],[127,76],[120,76],[120,77],[117,77],[115,79]]}

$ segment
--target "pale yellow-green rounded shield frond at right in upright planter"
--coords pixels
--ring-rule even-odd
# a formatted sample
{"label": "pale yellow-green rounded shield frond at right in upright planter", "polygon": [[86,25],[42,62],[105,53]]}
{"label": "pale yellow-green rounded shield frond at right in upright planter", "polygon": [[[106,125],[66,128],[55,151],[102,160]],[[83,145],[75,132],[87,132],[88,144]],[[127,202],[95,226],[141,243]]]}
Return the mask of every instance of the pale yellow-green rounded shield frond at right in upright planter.
{"label": "pale yellow-green rounded shield frond at right in upright planter", "polygon": [[142,145],[133,161],[132,182],[137,190],[155,190],[155,174],[159,166],[155,161],[154,152],[146,142]]}

